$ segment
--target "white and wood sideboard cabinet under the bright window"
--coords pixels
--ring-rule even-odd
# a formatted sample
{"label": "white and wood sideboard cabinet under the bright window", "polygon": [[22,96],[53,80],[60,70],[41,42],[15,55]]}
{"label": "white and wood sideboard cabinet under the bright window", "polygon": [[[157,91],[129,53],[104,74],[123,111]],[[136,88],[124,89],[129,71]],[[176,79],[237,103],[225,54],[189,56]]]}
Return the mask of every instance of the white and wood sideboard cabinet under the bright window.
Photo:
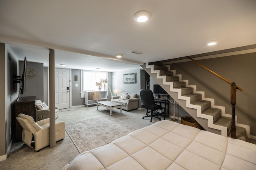
{"label": "white and wood sideboard cabinet under the bright window", "polygon": [[86,91],[84,92],[84,104],[88,107],[96,105],[96,102],[107,100],[107,91]]}

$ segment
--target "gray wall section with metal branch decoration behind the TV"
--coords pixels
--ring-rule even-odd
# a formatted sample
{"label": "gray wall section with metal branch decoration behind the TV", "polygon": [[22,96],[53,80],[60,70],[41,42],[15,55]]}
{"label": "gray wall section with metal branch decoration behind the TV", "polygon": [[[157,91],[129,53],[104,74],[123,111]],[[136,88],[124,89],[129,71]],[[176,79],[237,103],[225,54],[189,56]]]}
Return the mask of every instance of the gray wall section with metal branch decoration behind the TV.
{"label": "gray wall section with metal branch decoration behind the TV", "polygon": [[[27,60],[29,60],[27,58]],[[19,62],[20,73],[23,72],[23,61]],[[27,62],[26,73],[32,68],[36,72],[36,76],[31,79],[26,76],[26,92],[22,96],[36,96],[36,100],[44,101],[44,64],[43,63],[33,63]]]}

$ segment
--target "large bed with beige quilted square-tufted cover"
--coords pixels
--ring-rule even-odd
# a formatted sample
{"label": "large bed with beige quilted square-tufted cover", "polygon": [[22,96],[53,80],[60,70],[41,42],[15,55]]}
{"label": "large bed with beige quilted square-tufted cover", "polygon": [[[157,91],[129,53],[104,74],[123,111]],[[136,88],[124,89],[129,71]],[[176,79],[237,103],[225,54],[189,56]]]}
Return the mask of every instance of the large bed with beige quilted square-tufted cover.
{"label": "large bed with beige quilted square-tufted cover", "polygon": [[83,152],[62,170],[256,170],[256,145],[158,121]]}

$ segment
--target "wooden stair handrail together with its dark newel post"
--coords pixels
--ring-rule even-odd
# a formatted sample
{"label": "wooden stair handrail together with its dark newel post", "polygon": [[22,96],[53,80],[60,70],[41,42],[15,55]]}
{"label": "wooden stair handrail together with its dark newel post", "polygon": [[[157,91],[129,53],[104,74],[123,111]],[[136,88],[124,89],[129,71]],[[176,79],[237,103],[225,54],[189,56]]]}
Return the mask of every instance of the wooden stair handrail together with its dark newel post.
{"label": "wooden stair handrail together with its dark newel post", "polygon": [[191,59],[190,57],[188,57],[188,59],[190,59],[191,61],[193,61],[194,63],[200,65],[201,67],[205,68],[206,70],[208,70],[209,72],[211,72],[212,74],[214,74],[215,76],[221,78],[222,80],[224,80],[225,82],[227,82],[228,84],[231,85],[231,92],[230,92],[230,102],[232,105],[232,117],[231,117],[231,138],[236,139],[236,114],[235,114],[235,107],[236,107],[236,89],[240,90],[241,92],[243,91],[242,88],[240,88],[239,86],[236,85],[235,82],[230,82],[229,80],[227,80],[226,78],[220,76],[219,74],[217,74],[216,72],[213,72],[212,70],[210,70],[209,68],[207,68],[206,66],[198,63],[197,61]]}

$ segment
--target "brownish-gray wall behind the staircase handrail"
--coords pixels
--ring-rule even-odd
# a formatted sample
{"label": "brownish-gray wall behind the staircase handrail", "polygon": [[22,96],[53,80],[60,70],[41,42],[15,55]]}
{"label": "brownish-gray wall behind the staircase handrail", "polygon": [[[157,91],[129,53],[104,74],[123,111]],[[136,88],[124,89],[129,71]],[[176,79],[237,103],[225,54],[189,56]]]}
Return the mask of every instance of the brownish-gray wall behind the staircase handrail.
{"label": "brownish-gray wall behind the staircase handrail", "polygon": [[[233,55],[214,59],[199,60],[243,89],[236,91],[237,123],[250,125],[250,134],[256,135],[256,53]],[[225,106],[226,113],[231,114],[230,85],[214,74],[192,62],[171,64],[176,74],[188,79],[190,85],[196,85],[197,91],[204,91],[206,98],[214,98],[215,105]]]}

